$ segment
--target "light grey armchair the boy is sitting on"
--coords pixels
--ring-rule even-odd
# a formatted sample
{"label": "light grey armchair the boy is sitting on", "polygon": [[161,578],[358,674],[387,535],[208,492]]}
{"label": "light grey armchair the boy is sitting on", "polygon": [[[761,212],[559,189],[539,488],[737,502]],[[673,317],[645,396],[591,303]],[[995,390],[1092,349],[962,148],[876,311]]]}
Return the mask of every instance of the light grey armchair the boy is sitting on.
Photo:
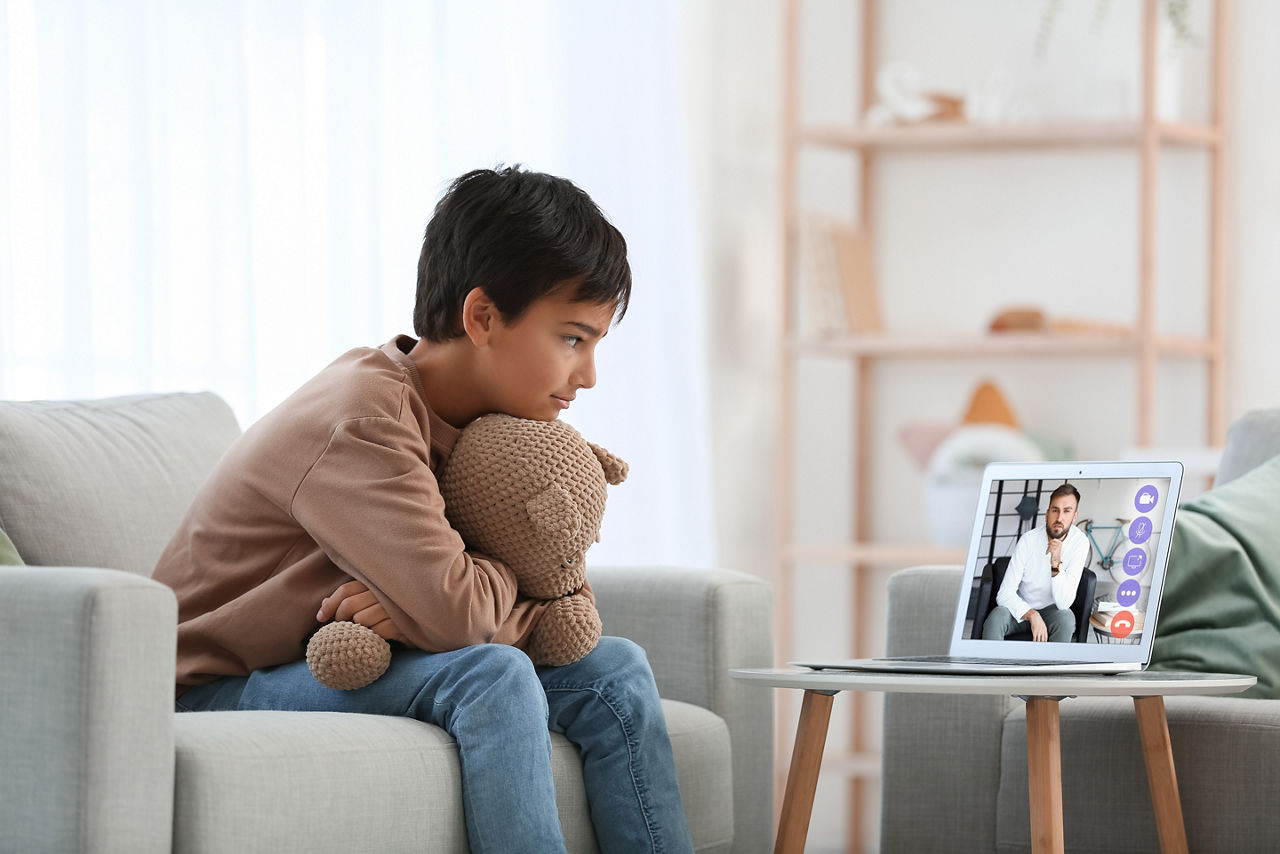
{"label": "light grey armchair the boy is sitting on", "polygon": [[[151,568],[239,434],[210,393],[0,402],[0,851],[465,851],[442,730],[338,713],[174,713],[177,603]],[[699,851],[772,839],[768,584],[595,567],[608,634],[663,697]],[[570,851],[596,850],[576,748],[553,736]]]}

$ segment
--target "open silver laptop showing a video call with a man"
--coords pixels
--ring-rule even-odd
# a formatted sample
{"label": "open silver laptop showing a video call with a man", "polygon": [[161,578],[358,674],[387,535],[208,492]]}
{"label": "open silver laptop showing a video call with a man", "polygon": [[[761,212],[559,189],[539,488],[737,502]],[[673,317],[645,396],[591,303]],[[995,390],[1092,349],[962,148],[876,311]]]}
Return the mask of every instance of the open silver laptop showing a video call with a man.
{"label": "open silver laptop showing a video call with a man", "polygon": [[[956,675],[1144,670],[1181,483],[1180,462],[993,462],[978,492],[946,656],[790,663]],[[1068,620],[1061,612],[1071,606],[1079,613]],[[1018,632],[1033,609],[1050,616],[1039,621],[1042,640]]]}

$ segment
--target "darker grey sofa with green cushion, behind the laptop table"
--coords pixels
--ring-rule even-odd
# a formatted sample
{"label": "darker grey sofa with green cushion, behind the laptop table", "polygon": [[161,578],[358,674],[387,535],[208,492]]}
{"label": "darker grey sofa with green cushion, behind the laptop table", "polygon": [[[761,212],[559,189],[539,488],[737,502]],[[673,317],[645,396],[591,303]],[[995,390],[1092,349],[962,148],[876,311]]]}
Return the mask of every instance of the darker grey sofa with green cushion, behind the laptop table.
{"label": "darker grey sofa with green cushion, behind the laptop table", "polygon": [[[1244,416],[1228,434],[1215,492],[1274,470],[1276,455],[1280,410]],[[1185,560],[1171,554],[1166,589],[1172,561]],[[1256,557],[1280,576],[1280,553]],[[947,650],[964,577],[960,567],[934,566],[890,579],[890,654]],[[1155,653],[1174,622],[1166,593]],[[1244,661],[1217,663],[1222,672],[1254,672]],[[1190,850],[1280,849],[1280,699],[1169,697],[1165,704]],[[1064,699],[1060,716],[1066,850],[1158,851],[1133,702]],[[1018,698],[887,694],[882,763],[884,854],[1029,850],[1027,716]]]}

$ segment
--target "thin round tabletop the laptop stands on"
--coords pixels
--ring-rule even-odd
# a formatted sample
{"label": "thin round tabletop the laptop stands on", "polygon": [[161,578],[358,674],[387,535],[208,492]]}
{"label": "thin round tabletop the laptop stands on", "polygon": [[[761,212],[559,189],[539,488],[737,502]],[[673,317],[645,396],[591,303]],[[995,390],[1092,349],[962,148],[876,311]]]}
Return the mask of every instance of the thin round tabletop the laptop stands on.
{"label": "thin round tabletop the laptop stands on", "polygon": [[1256,676],[1135,671],[1132,673],[1001,673],[934,675],[852,670],[731,670],[733,679],[772,688],[809,691],[884,691],[891,694],[1015,694],[1020,697],[1169,697],[1172,694],[1238,694],[1257,684]]}

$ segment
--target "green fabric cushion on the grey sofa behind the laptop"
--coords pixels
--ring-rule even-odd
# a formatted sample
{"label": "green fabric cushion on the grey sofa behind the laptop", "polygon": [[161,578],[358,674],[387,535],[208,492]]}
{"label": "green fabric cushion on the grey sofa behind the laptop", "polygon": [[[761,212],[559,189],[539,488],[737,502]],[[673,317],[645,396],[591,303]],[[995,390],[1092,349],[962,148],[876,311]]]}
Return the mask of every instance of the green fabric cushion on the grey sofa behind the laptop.
{"label": "green fabric cushion on the grey sofa behind the laptop", "polygon": [[1152,670],[1252,673],[1280,698],[1280,456],[1178,510]]}

